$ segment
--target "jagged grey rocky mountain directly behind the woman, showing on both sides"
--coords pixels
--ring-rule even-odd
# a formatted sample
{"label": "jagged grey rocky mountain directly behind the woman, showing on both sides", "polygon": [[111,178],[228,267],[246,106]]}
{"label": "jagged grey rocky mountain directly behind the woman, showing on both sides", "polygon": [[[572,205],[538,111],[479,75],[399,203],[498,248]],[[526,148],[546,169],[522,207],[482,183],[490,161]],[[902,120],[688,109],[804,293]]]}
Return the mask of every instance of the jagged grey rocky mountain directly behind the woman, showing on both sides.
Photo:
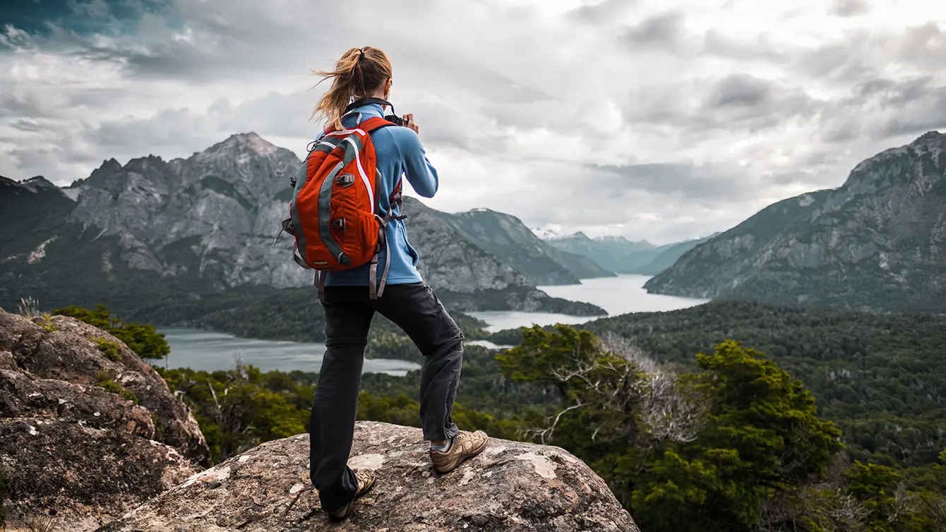
{"label": "jagged grey rocky mountain directly behind the woman, showing on both sides", "polygon": [[[300,163],[288,149],[241,133],[186,159],[105,161],[67,189],[43,178],[4,178],[0,305],[32,296],[50,307],[108,302],[128,311],[142,300],[310,288],[312,273],[291,260],[291,237],[272,241]],[[478,300],[516,310],[568,306],[419,201],[409,201],[406,213],[422,274],[438,290],[465,294],[465,308]]]}

